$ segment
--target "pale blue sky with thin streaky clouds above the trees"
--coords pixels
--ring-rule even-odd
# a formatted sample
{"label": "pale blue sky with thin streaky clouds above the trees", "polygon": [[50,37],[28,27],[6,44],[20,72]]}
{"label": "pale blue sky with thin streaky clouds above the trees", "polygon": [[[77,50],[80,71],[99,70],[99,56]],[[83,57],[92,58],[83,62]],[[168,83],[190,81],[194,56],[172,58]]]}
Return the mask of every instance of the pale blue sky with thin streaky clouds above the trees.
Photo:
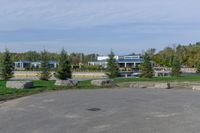
{"label": "pale blue sky with thin streaky clouds above the trees", "polygon": [[0,0],[0,51],[126,54],[200,41],[199,0]]}

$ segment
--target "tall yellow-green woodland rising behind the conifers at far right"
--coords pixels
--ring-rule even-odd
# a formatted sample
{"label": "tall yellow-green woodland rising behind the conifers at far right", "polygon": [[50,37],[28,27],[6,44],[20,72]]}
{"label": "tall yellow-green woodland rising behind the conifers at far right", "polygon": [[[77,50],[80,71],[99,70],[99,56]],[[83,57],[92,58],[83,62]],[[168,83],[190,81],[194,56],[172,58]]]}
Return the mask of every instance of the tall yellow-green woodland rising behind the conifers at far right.
{"label": "tall yellow-green woodland rising behind the conifers at far right", "polygon": [[147,50],[158,66],[172,67],[173,59],[177,58],[184,67],[197,68],[200,61],[200,42],[189,45],[166,47],[155,53],[155,49]]}

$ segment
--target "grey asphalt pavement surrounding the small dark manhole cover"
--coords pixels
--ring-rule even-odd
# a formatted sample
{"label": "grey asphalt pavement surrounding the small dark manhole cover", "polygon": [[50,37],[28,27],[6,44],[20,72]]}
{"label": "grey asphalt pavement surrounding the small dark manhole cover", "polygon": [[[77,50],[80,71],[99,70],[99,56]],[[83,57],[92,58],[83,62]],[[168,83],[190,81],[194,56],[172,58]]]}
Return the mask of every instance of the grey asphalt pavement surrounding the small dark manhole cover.
{"label": "grey asphalt pavement surrounding the small dark manhole cover", "polygon": [[200,93],[191,90],[69,90],[0,105],[0,133],[199,132]]}

